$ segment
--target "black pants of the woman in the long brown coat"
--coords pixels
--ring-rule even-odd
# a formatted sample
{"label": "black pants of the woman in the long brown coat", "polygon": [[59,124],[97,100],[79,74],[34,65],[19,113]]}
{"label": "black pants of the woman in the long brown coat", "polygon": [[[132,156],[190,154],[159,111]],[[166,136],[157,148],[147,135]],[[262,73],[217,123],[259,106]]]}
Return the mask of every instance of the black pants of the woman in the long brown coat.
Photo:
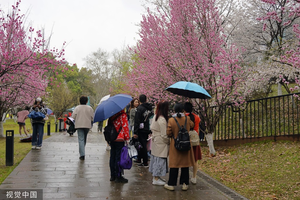
{"label": "black pants of the woman in the long brown coat", "polygon": [[[168,185],[170,186],[177,185],[178,171],[179,168],[170,168]],[[182,167],[180,179],[179,179],[179,185],[182,185],[183,183],[188,185],[189,180],[190,180],[190,174],[188,171],[188,167]]]}

